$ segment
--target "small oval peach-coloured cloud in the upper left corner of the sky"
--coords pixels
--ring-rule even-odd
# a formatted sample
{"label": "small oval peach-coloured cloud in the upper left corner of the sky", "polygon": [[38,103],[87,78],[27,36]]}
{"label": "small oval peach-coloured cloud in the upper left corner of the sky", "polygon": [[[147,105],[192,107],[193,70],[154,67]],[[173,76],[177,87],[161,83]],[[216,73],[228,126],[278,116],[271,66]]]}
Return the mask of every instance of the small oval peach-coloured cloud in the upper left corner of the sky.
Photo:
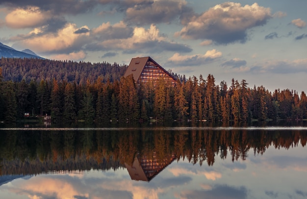
{"label": "small oval peach-coloured cloud in the upper left corner of the sky", "polygon": [[51,19],[50,11],[43,11],[39,7],[28,6],[26,8],[17,8],[8,13],[5,22],[11,28],[27,28],[44,25]]}

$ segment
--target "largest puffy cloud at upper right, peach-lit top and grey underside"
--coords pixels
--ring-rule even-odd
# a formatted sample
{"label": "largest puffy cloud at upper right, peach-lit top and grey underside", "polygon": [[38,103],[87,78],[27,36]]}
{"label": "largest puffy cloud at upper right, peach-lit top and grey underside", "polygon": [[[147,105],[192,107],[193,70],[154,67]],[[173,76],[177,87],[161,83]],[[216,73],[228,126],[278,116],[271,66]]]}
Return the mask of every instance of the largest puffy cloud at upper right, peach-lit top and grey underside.
{"label": "largest puffy cloud at upper right, peach-lit top and grey underside", "polygon": [[208,39],[216,44],[244,43],[248,29],[265,25],[270,18],[270,8],[257,3],[241,6],[240,3],[225,2],[195,15],[175,35],[184,39]]}

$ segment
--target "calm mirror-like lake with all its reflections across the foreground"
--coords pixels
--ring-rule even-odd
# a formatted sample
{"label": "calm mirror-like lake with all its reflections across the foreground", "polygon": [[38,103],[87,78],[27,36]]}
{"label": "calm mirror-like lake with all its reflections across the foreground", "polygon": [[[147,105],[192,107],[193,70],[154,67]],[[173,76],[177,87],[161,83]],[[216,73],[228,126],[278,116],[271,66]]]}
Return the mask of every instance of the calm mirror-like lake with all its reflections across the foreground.
{"label": "calm mirror-like lake with all its reflections across the foreground", "polygon": [[1,199],[305,199],[307,123],[0,126]]}

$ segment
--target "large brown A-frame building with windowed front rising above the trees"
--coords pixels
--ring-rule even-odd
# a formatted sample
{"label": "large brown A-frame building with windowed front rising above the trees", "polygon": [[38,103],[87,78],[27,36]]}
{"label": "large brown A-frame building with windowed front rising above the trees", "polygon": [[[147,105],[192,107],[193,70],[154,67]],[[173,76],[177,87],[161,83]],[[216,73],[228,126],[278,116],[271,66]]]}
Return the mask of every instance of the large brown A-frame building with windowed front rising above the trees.
{"label": "large brown A-frame building with windowed front rising above the trees", "polygon": [[151,57],[132,58],[124,74],[125,77],[133,75],[136,82],[157,81],[158,78],[170,80],[172,85],[176,84],[176,78],[157,64]]}

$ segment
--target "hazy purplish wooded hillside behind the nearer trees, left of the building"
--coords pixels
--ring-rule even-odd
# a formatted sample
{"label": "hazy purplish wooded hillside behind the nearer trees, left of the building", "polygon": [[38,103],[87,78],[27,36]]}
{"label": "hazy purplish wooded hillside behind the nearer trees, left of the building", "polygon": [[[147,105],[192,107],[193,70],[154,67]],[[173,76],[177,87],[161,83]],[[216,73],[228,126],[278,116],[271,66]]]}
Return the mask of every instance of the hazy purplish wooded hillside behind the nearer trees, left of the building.
{"label": "hazy purplish wooded hillside behind the nearer trees, left of the building", "polygon": [[124,75],[127,66],[116,63],[90,63],[73,61],[56,61],[36,58],[1,58],[0,67],[5,81],[12,80],[19,82],[25,79],[40,81],[65,80],[68,82],[76,81],[83,84],[89,79],[94,82],[98,77],[104,81],[120,79]]}

